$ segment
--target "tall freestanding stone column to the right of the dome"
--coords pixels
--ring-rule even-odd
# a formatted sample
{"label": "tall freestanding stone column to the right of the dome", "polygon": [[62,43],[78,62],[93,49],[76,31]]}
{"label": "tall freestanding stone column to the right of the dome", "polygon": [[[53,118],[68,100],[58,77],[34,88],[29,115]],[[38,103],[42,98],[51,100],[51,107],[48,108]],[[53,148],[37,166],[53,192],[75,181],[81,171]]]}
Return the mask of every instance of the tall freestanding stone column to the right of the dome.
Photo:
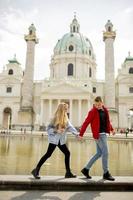
{"label": "tall freestanding stone column to the right of the dome", "polygon": [[103,33],[105,42],[105,105],[110,109],[115,109],[115,74],[114,74],[114,47],[116,37],[113,31],[113,24],[108,20],[105,25],[106,31]]}

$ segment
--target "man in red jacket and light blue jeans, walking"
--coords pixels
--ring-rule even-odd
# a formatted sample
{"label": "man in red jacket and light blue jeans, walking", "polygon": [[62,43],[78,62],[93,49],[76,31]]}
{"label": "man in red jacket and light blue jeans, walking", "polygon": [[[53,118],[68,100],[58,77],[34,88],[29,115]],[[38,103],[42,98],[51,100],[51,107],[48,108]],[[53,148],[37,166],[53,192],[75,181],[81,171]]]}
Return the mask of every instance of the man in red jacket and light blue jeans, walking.
{"label": "man in red jacket and light blue jeans, walking", "polygon": [[96,142],[96,154],[89,160],[87,165],[81,170],[81,172],[87,178],[91,178],[89,170],[94,162],[102,157],[103,178],[106,180],[114,181],[108,170],[108,146],[107,146],[107,133],[115,134],[115,131],[109,120],[109,113],[107,108],[104,107],[103,101],[100,96],[95,98],[94,106],[89,111],[83,125],[80,129],[79,137],[82,138],[88,125],[91,125],[93,138]]}

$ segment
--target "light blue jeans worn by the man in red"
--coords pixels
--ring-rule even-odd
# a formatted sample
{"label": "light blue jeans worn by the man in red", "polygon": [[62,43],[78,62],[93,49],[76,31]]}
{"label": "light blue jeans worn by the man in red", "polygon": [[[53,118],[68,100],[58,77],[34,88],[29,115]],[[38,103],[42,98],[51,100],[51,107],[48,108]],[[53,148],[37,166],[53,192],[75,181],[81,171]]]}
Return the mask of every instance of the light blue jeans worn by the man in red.
{"label": "light blue jeans worn by the man in red", "polygon": [[92,156],[92,158],[89,160],[87,165],[85,166],[86,169],[90,170],[94,162],[96,162],[97,159],[99,159],[102,156],[102,167],[103,172],[106,173],[108,171],[108,146],[107,146],[107,135],[101,134],[98,140],[95,140],[96,142],[96,154]]}

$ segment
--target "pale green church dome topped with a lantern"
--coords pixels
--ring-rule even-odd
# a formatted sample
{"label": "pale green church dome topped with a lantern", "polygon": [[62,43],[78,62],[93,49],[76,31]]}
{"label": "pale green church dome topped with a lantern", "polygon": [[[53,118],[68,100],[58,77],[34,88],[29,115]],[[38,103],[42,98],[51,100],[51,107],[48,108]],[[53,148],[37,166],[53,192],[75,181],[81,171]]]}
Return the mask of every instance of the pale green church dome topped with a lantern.
{"label": "pale green church dome topped with a lantern", "polygon": [[70,33],[66,33],[60,40],[58,40],[54,54],[64,53],[80,53],[86,54],[95,58],[94,51],[90,40],[79,32],[79,24],[74,18],[70,25]]}

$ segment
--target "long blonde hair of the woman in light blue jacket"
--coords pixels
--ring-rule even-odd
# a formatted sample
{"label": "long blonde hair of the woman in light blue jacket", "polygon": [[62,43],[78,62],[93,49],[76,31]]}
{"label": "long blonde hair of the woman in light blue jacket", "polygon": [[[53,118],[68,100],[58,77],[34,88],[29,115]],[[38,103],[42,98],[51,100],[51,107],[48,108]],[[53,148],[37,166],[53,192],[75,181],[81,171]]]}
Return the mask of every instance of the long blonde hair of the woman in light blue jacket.
{"label": "long blonde hair of the woman in light blue jacket", "polygon": [[62,102],[58,105],[57,110],[52,119],[52,124],[57,128],[66,128],[68,122],[67,116],[67,106],[68,104]]}

